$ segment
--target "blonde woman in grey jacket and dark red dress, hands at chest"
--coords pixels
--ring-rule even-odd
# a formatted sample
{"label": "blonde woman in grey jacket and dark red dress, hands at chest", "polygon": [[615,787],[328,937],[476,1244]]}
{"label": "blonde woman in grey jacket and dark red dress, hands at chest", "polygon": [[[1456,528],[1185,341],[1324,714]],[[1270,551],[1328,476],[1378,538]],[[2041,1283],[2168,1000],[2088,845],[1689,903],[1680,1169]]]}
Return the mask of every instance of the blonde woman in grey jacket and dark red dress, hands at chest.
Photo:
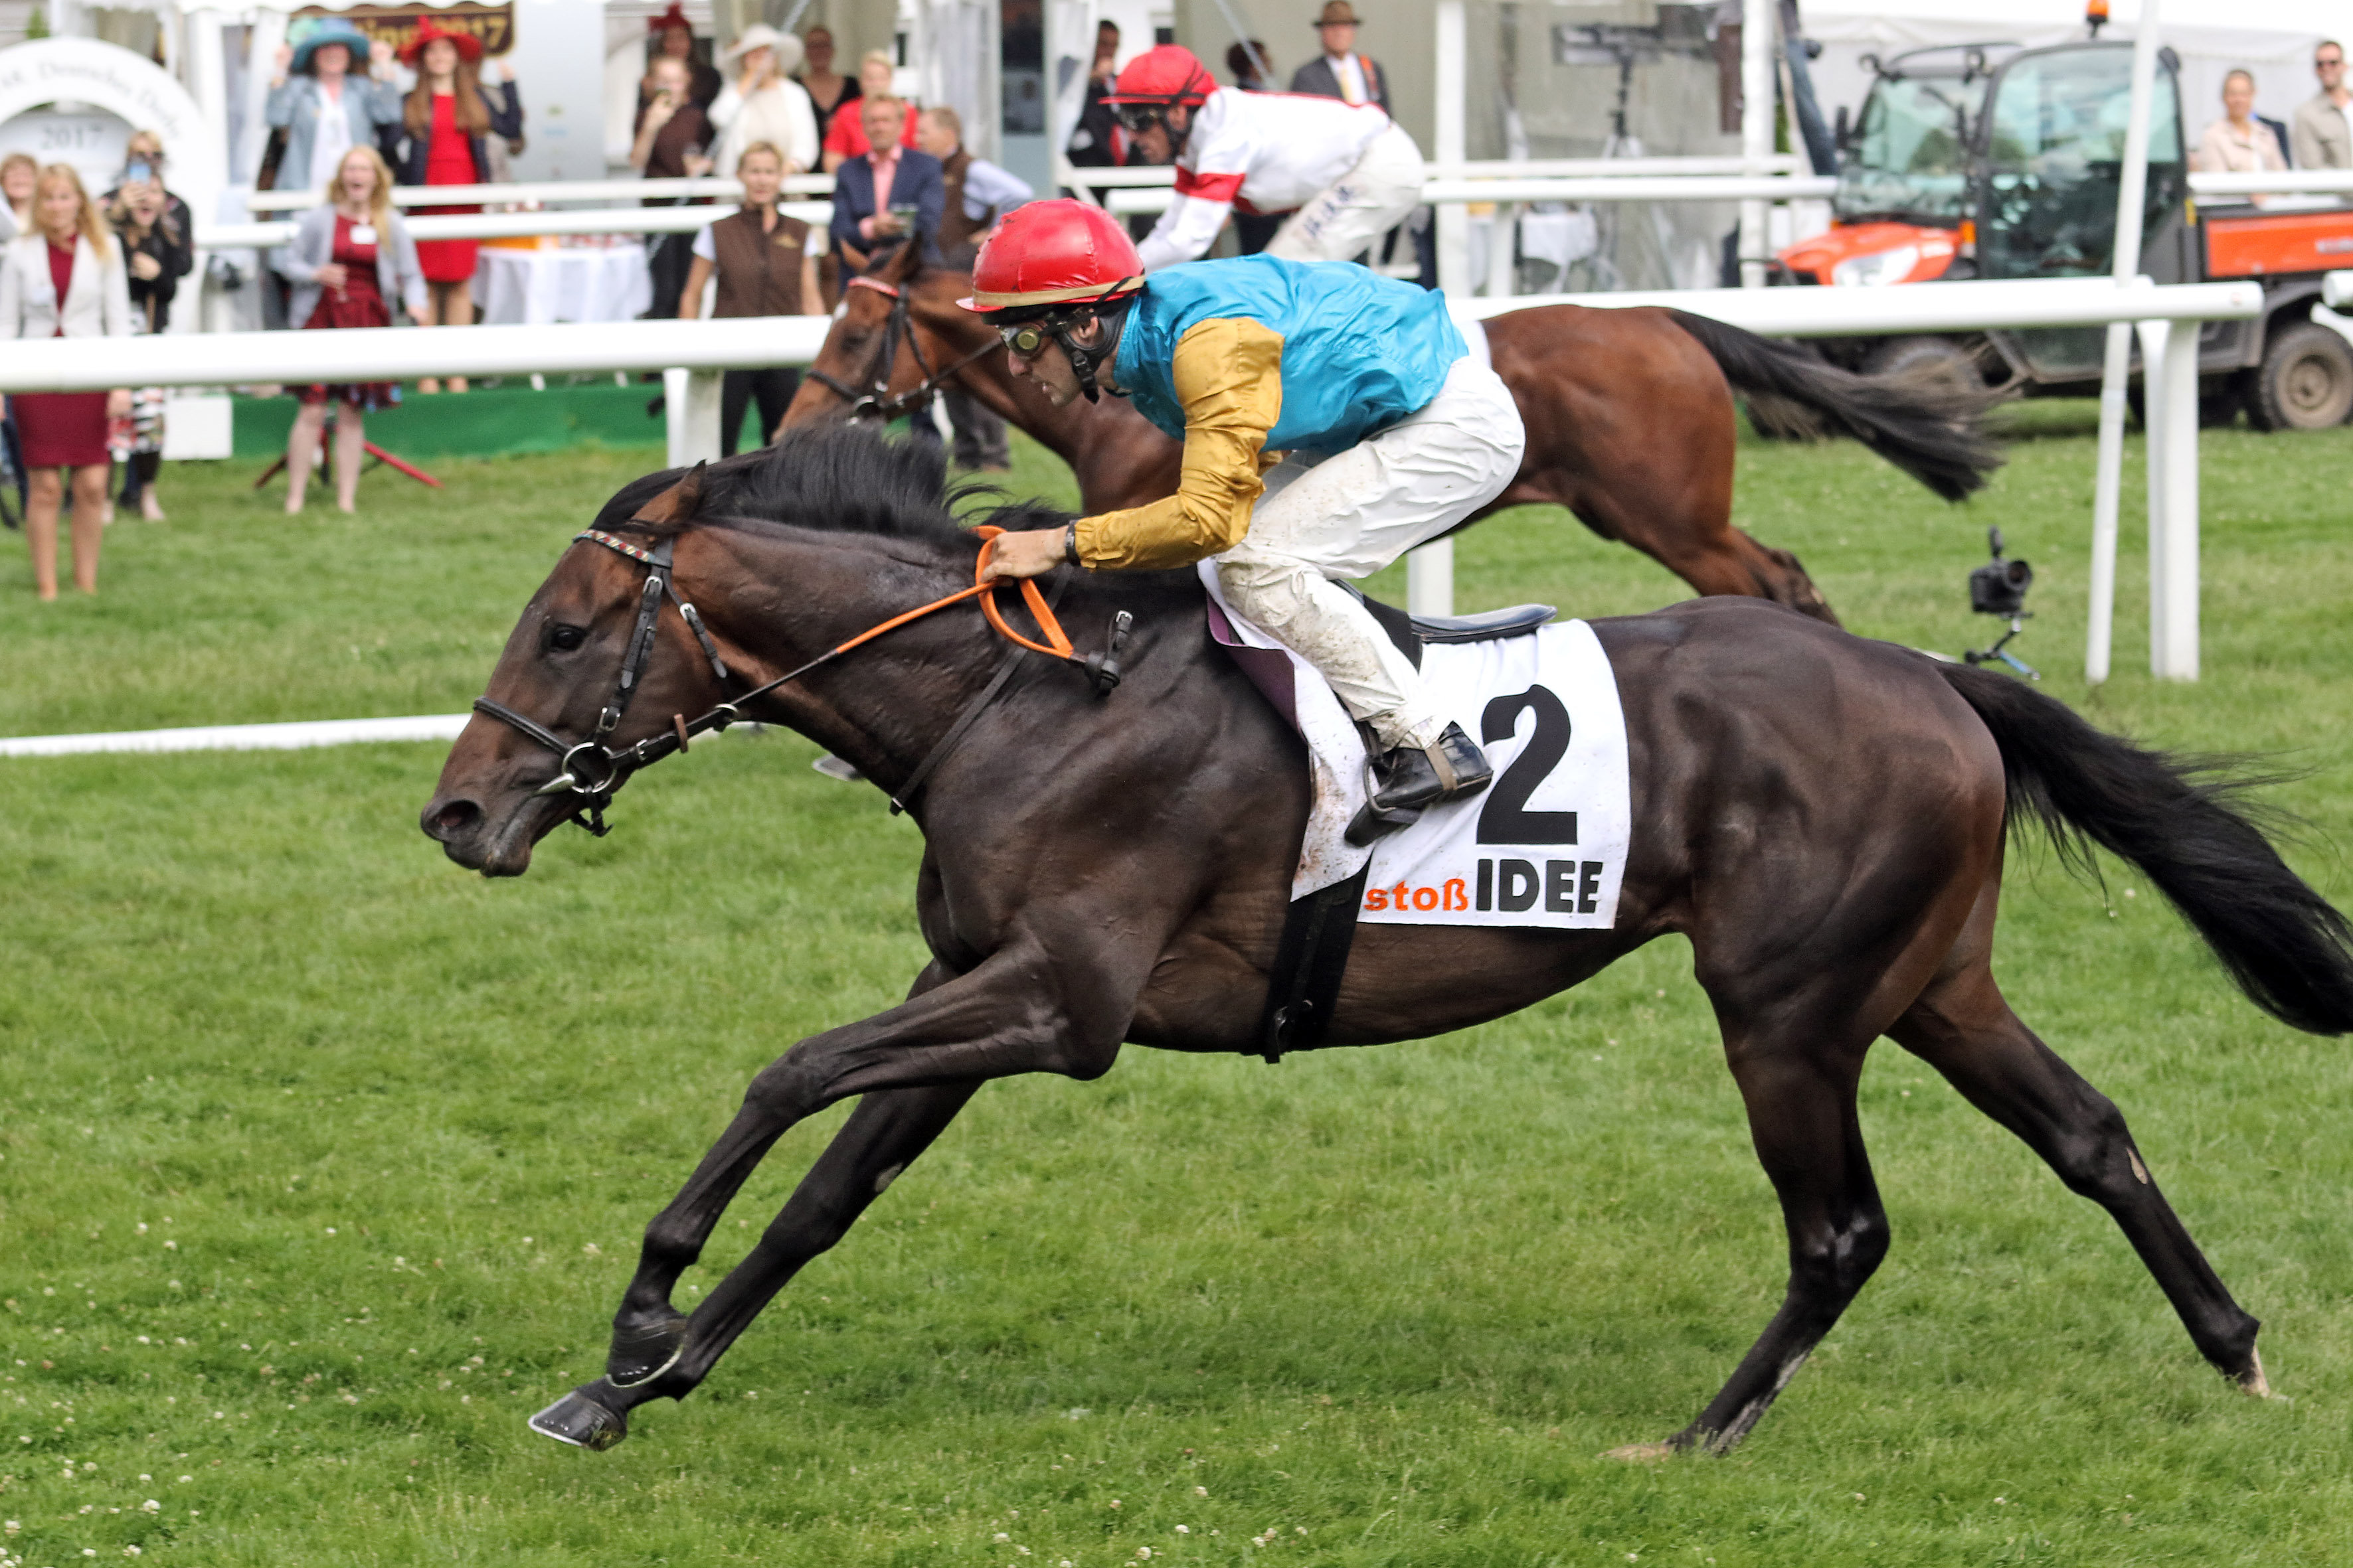
{"label": "blonde woman in grey jacket and dark red dress, hands at chest", "polygon": [[[294,226],[285,266],[294,280],[287,320],[304,327],[391,327],[393,301],[421,320],[426,280],[416,268],[416,242],[393,212],[393,172],[384,155],[376,148],[344,153],[332,193],[332,207],[313,207]],[[388,381],[301,388],[301,414],[287,437],[287,512],[301,510],[329,402],[344,404],[334,418],[334,503],[351,512],[360,505],[367,442],[360,416],[400,402],[400,388]]]}

